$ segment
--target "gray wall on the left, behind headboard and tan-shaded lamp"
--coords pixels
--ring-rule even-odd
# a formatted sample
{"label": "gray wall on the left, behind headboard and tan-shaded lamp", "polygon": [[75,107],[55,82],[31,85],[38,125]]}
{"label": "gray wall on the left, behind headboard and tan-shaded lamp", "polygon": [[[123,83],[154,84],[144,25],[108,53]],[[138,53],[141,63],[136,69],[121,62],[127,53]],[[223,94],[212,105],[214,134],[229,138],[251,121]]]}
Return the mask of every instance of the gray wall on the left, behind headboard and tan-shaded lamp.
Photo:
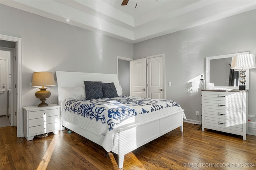
{"label": "gray wall on the left, behind headboard and tan-shaded lamp", "polygon": [[[38,105],[30,88],[36,71],[116,74],[117,56],[133,58],[133,45],[92,31],[0,5],[0,33],[22,38],[23,106]],[[56,78],[55,78],[56,80]],[[57,86],[48,104],[58,103]]]}

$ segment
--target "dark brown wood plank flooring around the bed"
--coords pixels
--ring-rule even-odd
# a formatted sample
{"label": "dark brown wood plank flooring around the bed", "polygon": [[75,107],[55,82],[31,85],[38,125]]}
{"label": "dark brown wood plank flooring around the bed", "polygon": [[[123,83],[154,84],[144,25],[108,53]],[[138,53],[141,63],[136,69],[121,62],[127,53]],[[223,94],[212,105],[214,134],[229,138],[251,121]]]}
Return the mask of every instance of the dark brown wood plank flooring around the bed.
{"label": "dark brown wood plank flooring around the bed", "polygon": [[[180,128],[124,156],[124,170],[256,169],[256,136]],[[112,153],[76,133],[60,131],[43,139],[16,137],[16,127],[0,128],[1,170],[118,170]],[[251,166],[251,167],[246,167]]]}

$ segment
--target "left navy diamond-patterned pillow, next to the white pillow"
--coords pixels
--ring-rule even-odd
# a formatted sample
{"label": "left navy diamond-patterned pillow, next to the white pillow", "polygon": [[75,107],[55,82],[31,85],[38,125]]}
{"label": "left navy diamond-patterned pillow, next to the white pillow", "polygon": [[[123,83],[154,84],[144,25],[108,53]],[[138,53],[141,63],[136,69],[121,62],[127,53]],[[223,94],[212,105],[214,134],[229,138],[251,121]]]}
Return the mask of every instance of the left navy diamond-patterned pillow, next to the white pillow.
{"label": "left navy diamond-patterned pillow, next to the white pillow", "polygon": [[101,82],[84,81],[86,100],[103,97]]}

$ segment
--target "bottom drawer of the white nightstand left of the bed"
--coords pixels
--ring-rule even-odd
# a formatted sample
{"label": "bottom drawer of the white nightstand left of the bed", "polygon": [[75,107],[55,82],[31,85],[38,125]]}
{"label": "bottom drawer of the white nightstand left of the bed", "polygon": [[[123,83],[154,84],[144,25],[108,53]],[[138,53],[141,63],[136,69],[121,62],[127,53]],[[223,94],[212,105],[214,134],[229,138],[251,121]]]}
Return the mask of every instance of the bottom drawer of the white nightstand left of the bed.
{"label": "bottom drawer of the white nightstand left of the bed", "polygon": [[48,131],[53,131],[55,129],[58,129],[58,122],[50,123],[50,124],[47,124],[47,125],[29,127],[28,128],[28,131],[29,131],[28,135],[48,133]]}

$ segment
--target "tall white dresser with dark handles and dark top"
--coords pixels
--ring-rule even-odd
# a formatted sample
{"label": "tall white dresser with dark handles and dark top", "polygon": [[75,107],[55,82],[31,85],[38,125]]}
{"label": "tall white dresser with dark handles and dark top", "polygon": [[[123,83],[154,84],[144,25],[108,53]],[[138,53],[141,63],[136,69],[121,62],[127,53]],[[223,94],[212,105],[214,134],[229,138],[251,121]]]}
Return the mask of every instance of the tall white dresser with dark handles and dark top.
{"label": "tall white dresser with dark handles and dark top", "polygon": [[246,140],[247,90],[202,90],[202,131],[212,129]]}

